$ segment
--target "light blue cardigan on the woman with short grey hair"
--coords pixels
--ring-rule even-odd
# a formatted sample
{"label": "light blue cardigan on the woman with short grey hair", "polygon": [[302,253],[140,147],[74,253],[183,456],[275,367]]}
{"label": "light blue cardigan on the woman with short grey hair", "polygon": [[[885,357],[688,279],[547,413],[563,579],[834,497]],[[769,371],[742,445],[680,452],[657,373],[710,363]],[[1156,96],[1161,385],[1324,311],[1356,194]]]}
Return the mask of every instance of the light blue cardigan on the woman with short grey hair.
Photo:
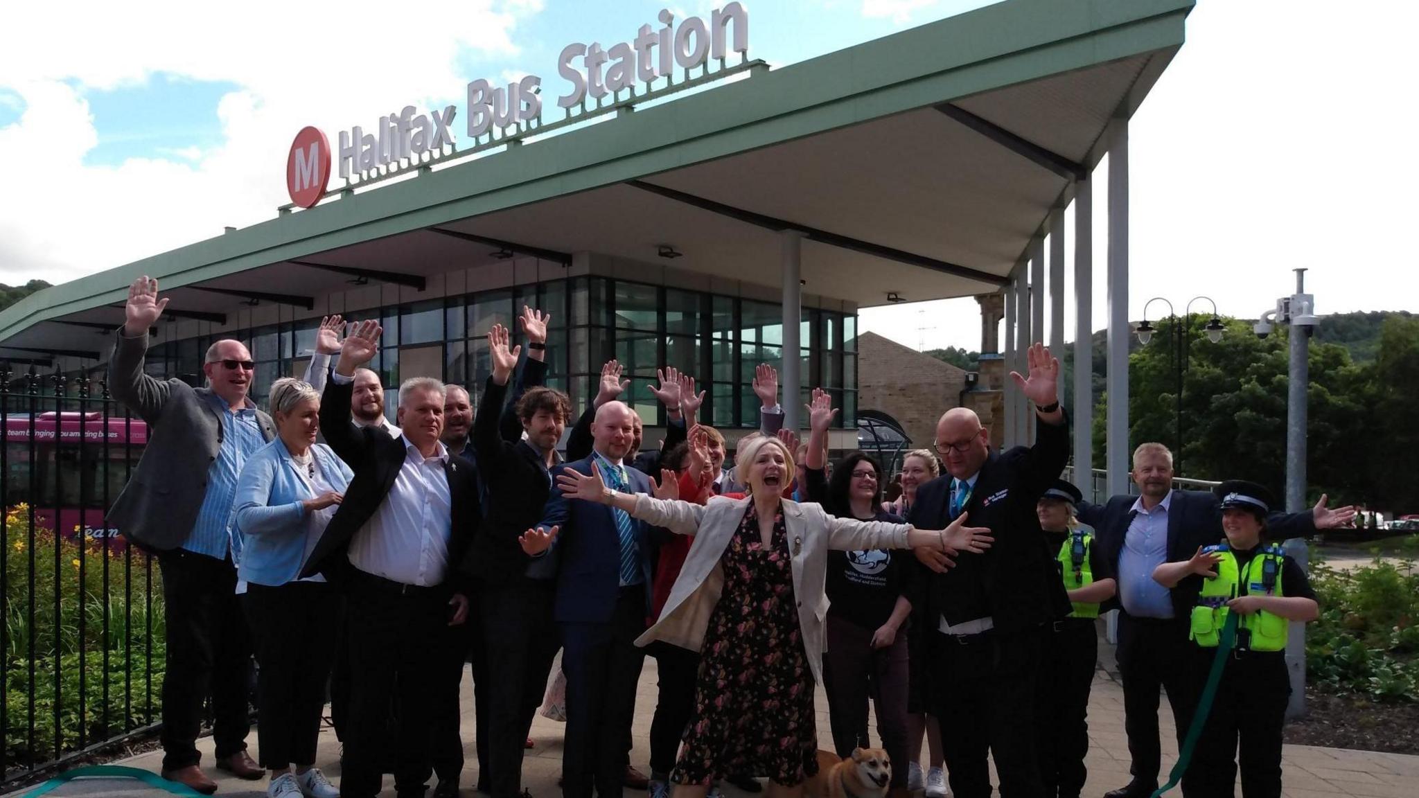
{"label": "light blue cardigan on the woman with short grey hair", "polygon": [[[345,493],[353,471],[324,443],[311,446],[321,474]],[[247,457],[233,501],[231,555],[237,578],[280,586],[301,574],[305,564],[307,514],[301,503],[315,498],[291,452],[280,437]]]}

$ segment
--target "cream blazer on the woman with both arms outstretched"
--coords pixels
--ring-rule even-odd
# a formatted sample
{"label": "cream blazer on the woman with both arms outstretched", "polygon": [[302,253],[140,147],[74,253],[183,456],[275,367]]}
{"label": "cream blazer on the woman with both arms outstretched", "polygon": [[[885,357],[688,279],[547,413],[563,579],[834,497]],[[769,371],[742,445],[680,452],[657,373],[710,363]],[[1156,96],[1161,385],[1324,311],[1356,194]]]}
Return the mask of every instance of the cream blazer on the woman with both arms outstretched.
{"label": "cream blazer on the woman with both arms outstretched", "polygon": [[[714,497],[708,504],[661,501],[646,494],[636,496],[633,515],[656,527],[681,535],[695,535],[675,586],[656,625],[646,630],[637,646],[651,640],[698,652],[704,647],[710,615],[724,589],[724,568],[719,558],[744,521],[752,497]],[[823,619],[827,618],[827,551],[858,551],[870,548],[907,548],[905,524],[856,521],[836,518],[819,504],[799,504],[783,500],[783,527],[789,538],[793,567],[793,595],[797,599],[799,629],[807,653],[813,679],[823,682],[823,652],[826,650]]]}

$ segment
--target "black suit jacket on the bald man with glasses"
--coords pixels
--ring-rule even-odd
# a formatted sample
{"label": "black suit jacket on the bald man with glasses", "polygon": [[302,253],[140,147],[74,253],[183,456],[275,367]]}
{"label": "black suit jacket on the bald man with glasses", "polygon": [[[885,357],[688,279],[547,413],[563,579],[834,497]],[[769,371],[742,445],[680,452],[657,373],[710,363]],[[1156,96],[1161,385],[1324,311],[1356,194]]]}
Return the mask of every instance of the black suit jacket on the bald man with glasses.
{"label": "black suit jacket on the bald man with glasses", "polygon": [[[995,542],[985,554],[962,552],[945,574],[922,568],[927,611],[921,621],[935,629],[944,615],[962,623],[989,615],[995,628],[1013,632],[1063,618],[1070,611],[1054,569],[1059,547],[1050,547],[1034,505],[1069,459],[1069,425],[1036,422],[1034,446],[992,452],[966,503],[966,525],[989,527]],[[917,488],[907,521],[922,530],[951,523],[951,476]]]}

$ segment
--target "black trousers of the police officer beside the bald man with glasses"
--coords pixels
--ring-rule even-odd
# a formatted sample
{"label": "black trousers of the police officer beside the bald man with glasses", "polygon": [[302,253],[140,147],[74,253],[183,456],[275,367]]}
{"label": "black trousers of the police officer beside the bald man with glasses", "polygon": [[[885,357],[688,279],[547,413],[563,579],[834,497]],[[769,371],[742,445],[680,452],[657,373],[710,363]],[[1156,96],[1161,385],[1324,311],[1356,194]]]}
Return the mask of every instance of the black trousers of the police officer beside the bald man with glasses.
{"label": "black trousers of the police officer beside the bald man with glasses", "polygon": [[1088,690],[1098,662],[1091,618],[1066,618],[1047,626],[1034,684],[1034,750],[1046,798],[1078,798],[1088,771]]}

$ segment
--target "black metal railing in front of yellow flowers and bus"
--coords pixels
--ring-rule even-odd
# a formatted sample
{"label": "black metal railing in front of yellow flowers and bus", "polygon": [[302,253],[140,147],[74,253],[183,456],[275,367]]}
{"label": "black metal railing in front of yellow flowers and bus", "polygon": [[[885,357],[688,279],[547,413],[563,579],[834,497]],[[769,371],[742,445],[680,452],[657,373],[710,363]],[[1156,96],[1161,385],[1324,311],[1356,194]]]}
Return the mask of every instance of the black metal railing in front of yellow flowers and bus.
{"label": "black metal railing in front of yellow flowers and bus", "polygon": [[0,784],[160,717],[158,562],[105,515],[148,427],[87,376],[0,371]]}

